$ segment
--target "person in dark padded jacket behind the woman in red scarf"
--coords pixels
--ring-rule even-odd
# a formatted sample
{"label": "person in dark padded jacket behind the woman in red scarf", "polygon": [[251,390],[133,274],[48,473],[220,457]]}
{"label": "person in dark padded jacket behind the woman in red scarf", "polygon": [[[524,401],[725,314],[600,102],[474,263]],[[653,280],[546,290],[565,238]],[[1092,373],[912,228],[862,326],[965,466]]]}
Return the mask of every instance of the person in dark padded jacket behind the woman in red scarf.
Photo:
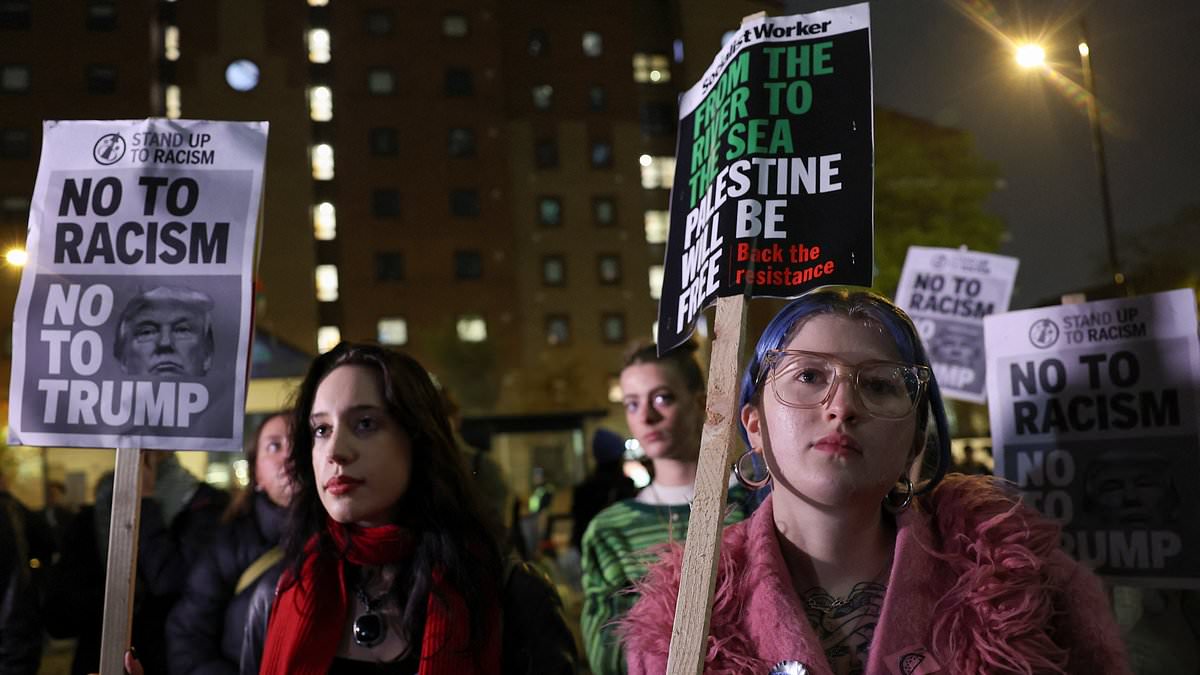
{"label": "person in dark padded jacket behind the woman in red scarf", "polygon": [[269,416],[246,449],[248,489],[226,512],[212,545],[196,562],[167,622],[173,675],[238,673],[256,583],[275,565],[292,482],[288,416]]}

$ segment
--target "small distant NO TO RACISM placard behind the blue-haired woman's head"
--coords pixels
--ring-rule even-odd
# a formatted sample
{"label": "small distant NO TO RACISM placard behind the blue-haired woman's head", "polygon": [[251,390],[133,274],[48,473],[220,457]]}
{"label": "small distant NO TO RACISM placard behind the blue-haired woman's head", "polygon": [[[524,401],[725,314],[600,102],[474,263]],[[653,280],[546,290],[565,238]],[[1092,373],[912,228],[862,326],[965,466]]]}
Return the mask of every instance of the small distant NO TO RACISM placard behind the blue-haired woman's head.
{"label": "small distant NO TO RACISM placard behind the blue-haired woman's head", "polygon": [[1018,263],[965,247],[908,246],[896,304],[925,342],[943,396],[986,400],[983,317],[1008,311]]}

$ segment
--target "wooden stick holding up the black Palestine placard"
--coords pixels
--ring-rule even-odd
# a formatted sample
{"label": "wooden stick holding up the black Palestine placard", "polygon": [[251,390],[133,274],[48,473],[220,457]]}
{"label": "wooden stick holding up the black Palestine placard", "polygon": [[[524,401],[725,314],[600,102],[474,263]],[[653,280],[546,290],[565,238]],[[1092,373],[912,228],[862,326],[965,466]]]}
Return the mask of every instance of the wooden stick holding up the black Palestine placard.
{"label": "wooden stick holding up the black Palestine placard", "polygon": [[740,412],[738,360],[745,342],[746,301],[744,295],[716,299],[704,435],[696,467],[696,498],[684,544],[683,579],[671,628],[670,675],[698,674],[704,669],[716,561],[721,554],[725,494],[730,483],[730,450],[737,440]]}

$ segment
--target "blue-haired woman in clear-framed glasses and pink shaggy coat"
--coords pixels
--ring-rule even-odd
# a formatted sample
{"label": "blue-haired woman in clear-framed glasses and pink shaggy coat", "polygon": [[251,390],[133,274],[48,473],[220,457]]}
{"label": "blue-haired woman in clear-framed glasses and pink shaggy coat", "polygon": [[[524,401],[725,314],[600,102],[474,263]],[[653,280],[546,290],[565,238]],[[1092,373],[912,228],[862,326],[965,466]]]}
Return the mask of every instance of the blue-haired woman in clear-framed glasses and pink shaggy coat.
{"label": "blue-haired woman in clear-framed glasses and pink shaggy coat", "polygon": [[[793,300],[740,401],[738,474],[773,491],[724,532],[706,673],[1128,673],[1058,526],[990,477],[944,476],[941,393],[892,301]],[[630,673],[665,670],[682,561],[652,568],[622,625]]]}

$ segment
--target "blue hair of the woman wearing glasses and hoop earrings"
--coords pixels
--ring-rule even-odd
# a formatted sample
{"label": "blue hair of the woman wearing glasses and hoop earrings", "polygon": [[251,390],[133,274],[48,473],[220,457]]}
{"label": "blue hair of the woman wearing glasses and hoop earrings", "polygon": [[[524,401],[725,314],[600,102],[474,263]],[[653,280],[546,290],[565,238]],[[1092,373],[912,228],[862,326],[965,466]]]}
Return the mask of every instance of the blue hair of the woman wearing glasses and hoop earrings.
{"label": "blue hair of the woman wearing glasses and hoop earrings", "polygon": [[[755,347],[754,356],[746,365],[745,374],[742,376],[739,407],[757,401],[762,384],[760,370],[767,352],[782,350],[809,318],[828,313],[864,319],[878,325],[892,339],[896,351],[900,352],[901,360],[913,365],[929,366],[929,357],[925,354],[925,347],[920,344],[912,319],[892,300],[866,288],[822,286],[788,303],[767,324],[758,339],[758,345]],[[917,408],[917,435],[923,441],[923,447],[928,448],[929,443],[934,443],[931,449],[937,465],[929,479],[918,486],[918,495],[931,491],[946,476],[946,470],[950,465],[949,424],[946,419],[942,390],[937,387],[937,378],[932,374],[930,374],[929,383],[925,387],[925,404]],[[926,432],[930,418],[932,418],[936,430],[936,434],[932,435]],[[742,428],[742,438],[746,441],[749,447],[745,428]]]}

